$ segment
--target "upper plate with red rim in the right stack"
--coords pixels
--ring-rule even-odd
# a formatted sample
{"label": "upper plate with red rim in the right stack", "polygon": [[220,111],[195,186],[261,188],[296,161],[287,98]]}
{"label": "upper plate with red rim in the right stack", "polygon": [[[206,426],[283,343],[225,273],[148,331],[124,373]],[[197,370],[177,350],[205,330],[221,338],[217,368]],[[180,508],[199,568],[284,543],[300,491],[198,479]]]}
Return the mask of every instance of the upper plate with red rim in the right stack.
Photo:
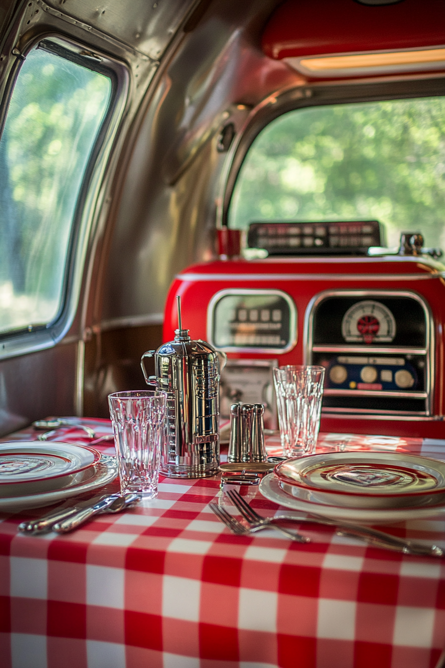
{"label": "upper plate with red rim in the right stack", "polygon": [[328,452],[280,462],[286,485],[368,499],[445,493],[445,462],[397,452]]}

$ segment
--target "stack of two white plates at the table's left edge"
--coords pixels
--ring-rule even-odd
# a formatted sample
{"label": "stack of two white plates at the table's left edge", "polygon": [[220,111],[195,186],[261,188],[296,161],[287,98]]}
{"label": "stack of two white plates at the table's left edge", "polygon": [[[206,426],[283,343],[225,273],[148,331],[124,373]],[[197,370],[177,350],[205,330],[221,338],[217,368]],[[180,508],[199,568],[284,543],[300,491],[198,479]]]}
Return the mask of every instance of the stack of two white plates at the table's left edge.
{"label": "stack of two white plates at the table's left edge", "polygon": [[0,444],[0,511],[37,508],[107,484],[117,474],[97,450],[69,443]]}

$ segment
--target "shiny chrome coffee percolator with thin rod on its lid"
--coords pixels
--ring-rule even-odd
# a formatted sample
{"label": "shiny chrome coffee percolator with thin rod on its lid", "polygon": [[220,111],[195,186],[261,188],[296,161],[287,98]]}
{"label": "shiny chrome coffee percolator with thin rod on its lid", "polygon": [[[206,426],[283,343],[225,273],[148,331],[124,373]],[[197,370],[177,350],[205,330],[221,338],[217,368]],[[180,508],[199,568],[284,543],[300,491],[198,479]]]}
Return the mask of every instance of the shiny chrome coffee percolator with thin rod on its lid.
{"label": "shiny chrome coffee percolator with thin rod on its lid", "polygon": [[[181,298],[177,297],[175,338],[141,357],[148,385],[167,393],[167,425],[161,452],[161,473],[169,478],[205,478],[219,466],[219,361],[205,341],[192,341],[182,329]],[[148,376],[145,357],[155,358]]]}

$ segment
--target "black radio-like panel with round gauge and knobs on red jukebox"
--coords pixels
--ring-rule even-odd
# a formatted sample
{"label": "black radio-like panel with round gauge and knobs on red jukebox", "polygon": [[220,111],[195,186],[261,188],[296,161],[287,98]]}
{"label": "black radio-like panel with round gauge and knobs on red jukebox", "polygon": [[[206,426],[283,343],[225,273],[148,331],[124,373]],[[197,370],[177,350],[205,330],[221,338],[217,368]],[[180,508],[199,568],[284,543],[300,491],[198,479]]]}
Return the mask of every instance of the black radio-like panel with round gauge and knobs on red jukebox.
{"label": "black radio-like panel with round gauge and knobs on red jukebox", "polygon": [[308,359],[326,367],[325,410],[428,413],[430,316],[418,295],[324,293],[308,321]]}

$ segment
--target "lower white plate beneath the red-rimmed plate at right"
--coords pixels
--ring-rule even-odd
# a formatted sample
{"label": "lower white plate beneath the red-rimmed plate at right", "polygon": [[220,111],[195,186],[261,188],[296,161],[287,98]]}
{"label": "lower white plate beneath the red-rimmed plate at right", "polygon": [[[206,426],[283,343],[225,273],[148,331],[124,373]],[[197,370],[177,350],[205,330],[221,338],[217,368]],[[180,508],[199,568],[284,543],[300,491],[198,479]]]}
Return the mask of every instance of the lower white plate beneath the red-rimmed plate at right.
{"label": "lower white plate beneath the red-rimmed plate at right", "polygon": [[[289,486],[292,488],[292,486]],[[445,513],[445,502],[436,506],[421,508],[348,508],[342,506],[330,506],[309,500],[296,498],[292,494],[286,494],[280,487],[280,482],[274,474],[270,473],[260,482],[260,492],[268,500],[284,506],[299,510],[300,512],[316,513],[336,520],[352,520],[362,524],[388,524],[402,522],[404,520],[416,520],[425,517]],[[309,494],[312,494],[308,490]]]}

